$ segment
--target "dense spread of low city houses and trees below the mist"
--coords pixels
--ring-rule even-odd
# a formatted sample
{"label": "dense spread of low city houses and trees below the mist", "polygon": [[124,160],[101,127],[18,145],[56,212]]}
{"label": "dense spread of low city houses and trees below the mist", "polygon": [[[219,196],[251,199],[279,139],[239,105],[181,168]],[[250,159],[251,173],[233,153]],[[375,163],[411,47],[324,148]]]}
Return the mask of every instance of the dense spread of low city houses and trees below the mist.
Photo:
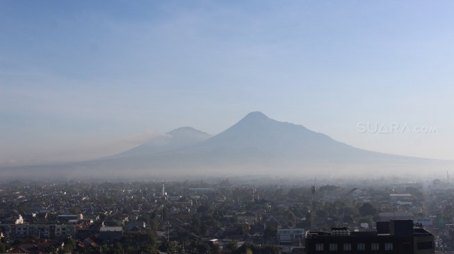
{"label": "dense spread of low city houses and trees below the mist", "polygon": [[407,219],[435,235],[432,249],[454,247],[447,181],[314,182],[2,183],[0,253],[305,253],[314,232]]}

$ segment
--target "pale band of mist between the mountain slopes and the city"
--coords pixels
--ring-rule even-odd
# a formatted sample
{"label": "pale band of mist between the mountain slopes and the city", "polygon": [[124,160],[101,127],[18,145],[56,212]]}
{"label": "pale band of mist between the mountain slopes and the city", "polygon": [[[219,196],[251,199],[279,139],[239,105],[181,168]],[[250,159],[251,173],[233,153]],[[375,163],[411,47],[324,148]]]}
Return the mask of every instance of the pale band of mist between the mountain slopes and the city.
{"label": "pale band of mist between the mountain slopes and the city", "polygon": [[433,172],[443,173],[444,169],[452,168],[452,162],[401,159],[400,162],[389,163],[380,160],[362,160],[361,163],[348,164],[345,161],[279,161],[270,158],[260,162],[245,158],[235,162],[220,162],[215,158],[196,160],[168,160],[156,158],[154,163],[134,160],[103,160],[102,162],[81,162],[73,164],[54,164],[45,166],[29,166],[23,168],[2,169],[0,178],[38,178],[38,179],[77,179],[77,178],[193,178],[197,176],[229,177],[265,175],[279,177],[330,177],[330,178],[371,178],[380,176],[433,176]]}

